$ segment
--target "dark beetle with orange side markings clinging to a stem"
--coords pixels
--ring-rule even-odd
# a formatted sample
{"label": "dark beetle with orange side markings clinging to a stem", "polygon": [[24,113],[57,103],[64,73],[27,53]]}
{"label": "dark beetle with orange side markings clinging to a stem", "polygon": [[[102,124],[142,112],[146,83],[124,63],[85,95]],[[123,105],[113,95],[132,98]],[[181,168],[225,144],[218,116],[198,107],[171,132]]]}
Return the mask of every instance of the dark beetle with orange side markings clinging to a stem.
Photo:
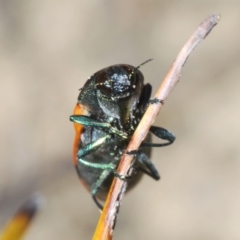
{"label": "dark beetle with orange side markings clinging to a stem", "polygon": [[114,177],[128,180],[129,188],[143,173],[159,180],[159,173],[149,160],[149,147],[167,146],[175,140],[166,129],[151,126],[149,132],[167,142],[151,143],[149,133],[140,149],[130,153],[135,154],[135,175],[117,173],[121,156],[148,104],[160,101],[150,99],[152,87],[149,83],[144,84],[139,68],[146,62],[138,67],[116,64],[94,73],[80,89],[74,114],[70,116],[76,132],[73,163],[81,182],[100,209],[103,207],[99,200],[106,200]]}

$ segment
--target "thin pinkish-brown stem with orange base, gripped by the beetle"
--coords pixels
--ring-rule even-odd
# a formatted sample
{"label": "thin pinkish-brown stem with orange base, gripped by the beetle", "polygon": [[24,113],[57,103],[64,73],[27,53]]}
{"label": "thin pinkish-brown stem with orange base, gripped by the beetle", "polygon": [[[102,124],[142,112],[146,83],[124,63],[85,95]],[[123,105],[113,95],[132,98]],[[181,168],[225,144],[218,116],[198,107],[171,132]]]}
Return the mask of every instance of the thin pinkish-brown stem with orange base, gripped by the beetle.
{"label": "thin pinkish-brown stem with orange base, gripped by the beetle", "polygon": [[[176,60],[173,62],[159,90],[154,96],[161,99],[159,104],[150,104],[141,122],[139,123],[132,139],[126,149],[126,152],[139,148],[141,142],[147,136],[150,126],[154,122],[163,102],[167,99],[168,94],[177,84],[181,69],[186,62],[192,50],[210,33],[212,28],[219,22],[220,15],[212,14],[207,17],[195,30],[187,43],[183,46]],[[124,154],[118,167],[118,173],[121,175],[131,174],[131,166],[133,157],[129,154]],[[116,224],[117,213],[119,211],[120,201],[127,187],[127,182],[118,178],[114,178],[111,189],[109,191],[103,212],[100,216],[97,229],[93,236],[93,240],[110,240]]]}

